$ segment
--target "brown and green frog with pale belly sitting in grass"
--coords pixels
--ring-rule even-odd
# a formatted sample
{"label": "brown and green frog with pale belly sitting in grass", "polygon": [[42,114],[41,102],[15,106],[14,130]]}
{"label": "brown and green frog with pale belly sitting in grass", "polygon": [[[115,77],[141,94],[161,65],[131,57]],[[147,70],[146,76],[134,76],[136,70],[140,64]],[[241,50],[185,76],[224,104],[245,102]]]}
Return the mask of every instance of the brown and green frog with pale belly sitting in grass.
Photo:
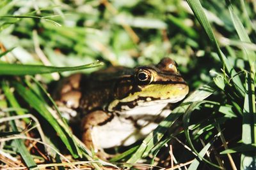
{"label": "brown and green frog with pale belly sitting in grass", "polygon": [[168,104],[188,92],[176,62],[164,57],[155,65],[72,74],[61,81],[58,102],[76,110],[81,140],[97,153],[145,138],[170,114]]}

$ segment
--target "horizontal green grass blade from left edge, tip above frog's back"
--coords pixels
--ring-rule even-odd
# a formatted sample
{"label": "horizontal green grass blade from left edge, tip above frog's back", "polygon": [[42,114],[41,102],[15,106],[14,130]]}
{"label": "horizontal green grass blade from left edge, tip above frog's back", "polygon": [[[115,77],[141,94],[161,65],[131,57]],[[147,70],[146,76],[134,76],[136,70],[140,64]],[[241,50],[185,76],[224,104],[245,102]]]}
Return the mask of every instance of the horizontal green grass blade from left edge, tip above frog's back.
{"label": "horizontal green grass blade from left edge, tip above frog's back", "polygon": [[85,64],[76,67],[53,67],[53,66],[35,66],[29,64],[6,64],[0,63],[0,75],[35,75],[63,71],[76,71],[79,69],[88,69],[92,67],[103,66],[103,62],[93,62],[92,64]]}

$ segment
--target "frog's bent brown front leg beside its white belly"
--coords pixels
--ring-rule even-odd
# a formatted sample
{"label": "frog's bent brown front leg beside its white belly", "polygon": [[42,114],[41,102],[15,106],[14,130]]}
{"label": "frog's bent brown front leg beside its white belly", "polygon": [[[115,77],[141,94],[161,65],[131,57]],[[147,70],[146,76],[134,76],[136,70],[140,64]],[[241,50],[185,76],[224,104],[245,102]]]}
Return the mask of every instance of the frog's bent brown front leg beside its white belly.
{"label": "frog's bent brown front leg beside its white belly", "polygon": [[86,115],[82,120],[82,141],[88,148],[93,148],[97,152],[103,152],[100,146],[97,146],[97,136],[93,136],[93,127],[104,125],[111,121],[113,115],[102,110],[96,110]]}

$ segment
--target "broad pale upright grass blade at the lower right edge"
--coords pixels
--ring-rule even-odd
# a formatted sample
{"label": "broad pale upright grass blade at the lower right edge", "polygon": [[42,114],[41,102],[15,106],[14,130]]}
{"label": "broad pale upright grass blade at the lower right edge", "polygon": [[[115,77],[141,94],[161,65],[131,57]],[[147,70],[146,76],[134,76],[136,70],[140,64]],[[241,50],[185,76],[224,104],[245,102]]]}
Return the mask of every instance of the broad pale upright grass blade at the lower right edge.
{"label": "broad pale upright grass blade at the lower right edge", "polygon": [[[253,73],[246,73],[246,95],[244,97],[242,141],[246,145],[256,143],[255,80]],[[242,152],[241,169],[256,169],[256,150]]]}

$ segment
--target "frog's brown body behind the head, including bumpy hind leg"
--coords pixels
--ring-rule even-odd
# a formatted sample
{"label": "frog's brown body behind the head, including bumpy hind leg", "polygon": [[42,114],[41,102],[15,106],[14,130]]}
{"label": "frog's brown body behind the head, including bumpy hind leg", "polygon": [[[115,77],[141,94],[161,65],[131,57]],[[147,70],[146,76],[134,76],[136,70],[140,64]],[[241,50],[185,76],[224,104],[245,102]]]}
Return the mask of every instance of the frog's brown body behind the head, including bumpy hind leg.
{"label": "frog's brown body behind the head, including bumpy hind leg", "polygon": [[108,67],[90,75],[72,74],[59,86],[58,101],[83,112],[102,108],[115,96],[116,83],[131,78],[134,70],[127,67]]}

